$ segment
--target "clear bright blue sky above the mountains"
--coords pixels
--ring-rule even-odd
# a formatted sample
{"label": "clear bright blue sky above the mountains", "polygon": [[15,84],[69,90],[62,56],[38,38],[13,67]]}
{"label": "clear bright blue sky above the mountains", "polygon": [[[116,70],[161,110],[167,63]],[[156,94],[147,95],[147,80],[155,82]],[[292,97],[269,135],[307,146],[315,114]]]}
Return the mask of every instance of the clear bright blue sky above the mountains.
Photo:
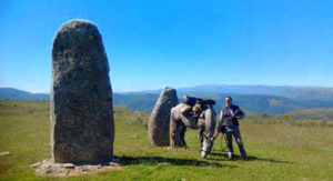
{"label": "clear bright blue sky above the mountains", "polygon": [[98,26],[117,92],[333,87],[332,0],[0,0],[0,87],[49,92],[52,41],[70,19]]}

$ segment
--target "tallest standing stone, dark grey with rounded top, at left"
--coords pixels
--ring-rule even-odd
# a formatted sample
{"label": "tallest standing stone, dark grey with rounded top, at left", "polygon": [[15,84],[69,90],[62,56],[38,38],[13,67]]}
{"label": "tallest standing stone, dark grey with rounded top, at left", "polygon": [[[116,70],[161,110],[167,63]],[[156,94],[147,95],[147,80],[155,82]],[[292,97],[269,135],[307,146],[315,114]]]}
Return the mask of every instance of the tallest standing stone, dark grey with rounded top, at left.
{"label": "tallest standing stone, dark grey with rounded top, at left", "polygon": [[114,123],[108,58],[98,28],[89,21],[64,23],[53,41],[50,120],[54,162],[112,159]]}

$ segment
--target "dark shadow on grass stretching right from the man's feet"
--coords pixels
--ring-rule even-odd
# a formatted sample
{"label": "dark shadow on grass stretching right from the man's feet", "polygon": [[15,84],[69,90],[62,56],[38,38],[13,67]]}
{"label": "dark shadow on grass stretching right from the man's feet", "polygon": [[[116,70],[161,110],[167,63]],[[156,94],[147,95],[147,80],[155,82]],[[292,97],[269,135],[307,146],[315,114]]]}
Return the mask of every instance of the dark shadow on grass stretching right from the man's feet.
{"label": "dark shadow on grass stretching right from the man's feet", "polygon": [[[234,155],[234,158],[232,160],[230,160],[228,158],[226,153],[211,152],[210,154],[223,158],[223,159],[209,158],[209,160],[214,160],[214,161],[243,160],[242,157],[240,157],[240,155]],[[271,163],[295,163],[293,161],[282,161],[282,160],[274,160],[274,159],[265,159],[265,158],[259,158],[259,157],[254,157],[254,155],[249,155],[246,161],[264,161],[264,162],[271,162]]]}

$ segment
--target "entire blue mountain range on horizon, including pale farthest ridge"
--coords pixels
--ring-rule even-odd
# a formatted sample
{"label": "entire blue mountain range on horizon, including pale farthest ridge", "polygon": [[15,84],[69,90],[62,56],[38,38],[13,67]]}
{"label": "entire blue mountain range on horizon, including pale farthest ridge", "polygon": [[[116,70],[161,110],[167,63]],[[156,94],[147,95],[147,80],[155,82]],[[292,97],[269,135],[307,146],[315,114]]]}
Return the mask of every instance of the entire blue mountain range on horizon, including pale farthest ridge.
{"label": "entire blue mountain range on horizon, including pale farthest ridge", "polygon": [[[190,94],[216,100],[220,111],[223,100],[231,95],[235,104],[252,112],[286,113],[302,109],[333,108],[333,89],[316,87],[269,87],[269,86],[198,86],[176,89],[179,98]],[[151,112],[161,90],[113,93],[115,104],[132,110]],[[0,88],[0,99],[48,101],[47,93],[30,93],[11,88]]]}

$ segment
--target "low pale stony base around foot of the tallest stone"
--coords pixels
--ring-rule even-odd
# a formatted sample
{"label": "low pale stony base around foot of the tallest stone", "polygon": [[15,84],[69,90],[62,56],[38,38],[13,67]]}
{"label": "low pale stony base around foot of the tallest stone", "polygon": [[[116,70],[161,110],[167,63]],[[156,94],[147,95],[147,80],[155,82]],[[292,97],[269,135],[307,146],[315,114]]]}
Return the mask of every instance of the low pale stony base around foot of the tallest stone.
{"label": "low pale stony base around foot of the tallest stone", "polygon": [[54,163],[52,159],[46,159],[30,165],[38,175],[69,177],[103,171],[120,170],[119,161],[103,164],[73,164],[73,163]]}

